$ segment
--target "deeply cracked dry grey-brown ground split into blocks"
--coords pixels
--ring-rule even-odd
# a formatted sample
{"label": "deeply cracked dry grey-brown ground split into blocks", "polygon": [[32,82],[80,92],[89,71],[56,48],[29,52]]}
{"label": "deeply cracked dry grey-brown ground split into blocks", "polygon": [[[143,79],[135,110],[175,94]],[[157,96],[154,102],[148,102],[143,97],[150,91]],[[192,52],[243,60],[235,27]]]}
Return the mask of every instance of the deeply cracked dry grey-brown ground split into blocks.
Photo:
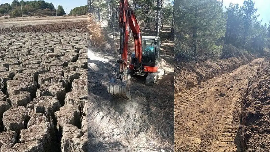
{"label": "deeply cracked dry grey-brown ground split into blocks", "polygon": [[86,22],[65,25],[0,29],[0,151],[87,151]]}

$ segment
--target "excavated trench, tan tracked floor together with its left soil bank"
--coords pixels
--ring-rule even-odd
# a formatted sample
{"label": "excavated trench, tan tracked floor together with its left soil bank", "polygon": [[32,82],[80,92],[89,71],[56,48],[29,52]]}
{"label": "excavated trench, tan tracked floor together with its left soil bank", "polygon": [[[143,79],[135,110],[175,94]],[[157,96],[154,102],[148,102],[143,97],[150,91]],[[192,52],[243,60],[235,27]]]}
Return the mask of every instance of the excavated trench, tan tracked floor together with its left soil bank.
{"label": "excavated trench, tan tracked floor together with its left soil bank", "polygon": [[[175,77],[178,81],[174,109],[175,151],[239,151],[240,143],[245,141],[238,138],[239,124],[243,121],[241,113],[245,109],[242,99],[250,76],[260,69],[264,59],[249,61],[226,59],[222,64],[207,62],[180,67],[185,70],[178,71]],[[219,70],[220,67],[233,68]],[[181,75],[187,78],[185,82],[179,81]],[[242,130],[241,125],[239,130]]]}

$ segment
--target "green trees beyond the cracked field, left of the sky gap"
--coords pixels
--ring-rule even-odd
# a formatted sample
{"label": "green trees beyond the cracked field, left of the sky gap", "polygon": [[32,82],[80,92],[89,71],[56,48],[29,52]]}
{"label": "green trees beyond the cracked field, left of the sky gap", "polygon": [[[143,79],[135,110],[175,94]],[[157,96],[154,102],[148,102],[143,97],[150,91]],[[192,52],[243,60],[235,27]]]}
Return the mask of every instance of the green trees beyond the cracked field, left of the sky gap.
{"label": "green trees beyond the cracked field, left of the sky gap", "polygon": [[[48,15],[55,16],[56,9],[52,3],[45,1],[16,1],[14,0],[11,4],[5,3],[0,5],[0,16],[10,15],[12,18],[15,16],[23,15]],[[57,15],[65,15],[65,11],[61,5],[57,8]]]}

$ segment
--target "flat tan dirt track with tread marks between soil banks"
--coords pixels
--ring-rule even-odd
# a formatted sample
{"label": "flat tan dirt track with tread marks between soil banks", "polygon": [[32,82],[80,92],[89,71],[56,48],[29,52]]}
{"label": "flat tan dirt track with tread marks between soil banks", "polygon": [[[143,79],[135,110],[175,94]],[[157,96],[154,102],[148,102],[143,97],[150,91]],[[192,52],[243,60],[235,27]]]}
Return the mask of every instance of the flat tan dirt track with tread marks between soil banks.
{"label": "flat tan dirt track with tread marks between soil banks", "polygon": [[242,93],[263,59],[255,59],[175,96],[175,151],[236,151]]}

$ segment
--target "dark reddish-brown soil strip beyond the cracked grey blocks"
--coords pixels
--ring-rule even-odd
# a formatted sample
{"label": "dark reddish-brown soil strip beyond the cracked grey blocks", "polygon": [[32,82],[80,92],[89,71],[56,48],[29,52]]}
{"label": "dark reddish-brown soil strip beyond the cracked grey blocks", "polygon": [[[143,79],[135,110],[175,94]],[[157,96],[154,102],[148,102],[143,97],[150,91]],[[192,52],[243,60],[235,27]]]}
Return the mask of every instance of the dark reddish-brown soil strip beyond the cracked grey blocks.
{"label": "dark reddish-brown soil strip beyond the cracked grey blocks", "polygon": [[81,22],[65,22],[65,23],[52,23],[42,25],[27,25],[22,27],[14,28],[3,28],[0,29],[0,33],[7,32],[61,32],[61,31],[72,31],[79,30],[79,32],[87,32],[87,21]]}

